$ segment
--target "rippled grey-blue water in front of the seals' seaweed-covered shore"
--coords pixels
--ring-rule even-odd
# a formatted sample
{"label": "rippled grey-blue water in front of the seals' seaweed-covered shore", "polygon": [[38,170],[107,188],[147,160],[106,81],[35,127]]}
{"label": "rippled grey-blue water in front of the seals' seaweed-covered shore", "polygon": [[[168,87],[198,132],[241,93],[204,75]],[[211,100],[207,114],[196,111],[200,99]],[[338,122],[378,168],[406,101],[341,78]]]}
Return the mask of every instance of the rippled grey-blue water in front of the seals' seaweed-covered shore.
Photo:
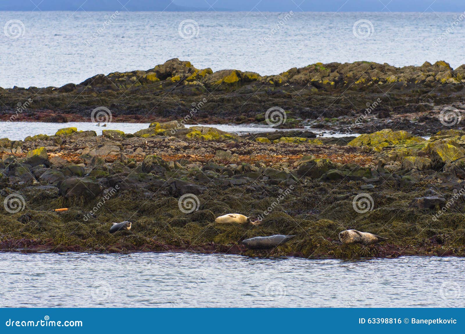
{"label": "rippled grey-blue water in front of the seals' seaweed-covered shore", "polygon": [[465,259],[0,253],[2,307],[463,307]]}

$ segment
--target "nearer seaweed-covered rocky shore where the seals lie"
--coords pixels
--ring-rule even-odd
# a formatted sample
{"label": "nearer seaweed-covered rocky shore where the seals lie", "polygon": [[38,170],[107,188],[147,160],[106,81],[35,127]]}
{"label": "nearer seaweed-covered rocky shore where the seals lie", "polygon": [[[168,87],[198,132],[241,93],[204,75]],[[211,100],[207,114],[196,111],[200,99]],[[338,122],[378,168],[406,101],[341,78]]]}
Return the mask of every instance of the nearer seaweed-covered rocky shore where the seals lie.
{"label": "nearer seaweed-covered rocky shore where the seals lie", "polygon": [[[426,140],[398,129],[237,136],[177,121],[133,134],[107,129],[0,139],[0,249],[465,255],[465,131]],[[215,223],[227,213],[260,223]],[[123,221],[132,228],[109,233]],[[388,240],[341,244],[346,229]],[[269,250],[241,244],[274,234],[295,237]]]}

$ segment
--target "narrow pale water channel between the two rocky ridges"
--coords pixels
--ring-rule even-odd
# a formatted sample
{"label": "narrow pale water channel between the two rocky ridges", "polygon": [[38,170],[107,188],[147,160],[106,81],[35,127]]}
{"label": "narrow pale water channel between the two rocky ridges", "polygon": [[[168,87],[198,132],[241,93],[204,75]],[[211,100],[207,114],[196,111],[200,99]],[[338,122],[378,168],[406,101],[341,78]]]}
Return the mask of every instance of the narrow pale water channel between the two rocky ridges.
{"label": "narrow pale water channel between the two rocky ridges", "polygon": [[[27,136],[34,136],[39,133],[44,135],[54,135],[60,128],[76,127],[78,130],[87,131],[94,130],[97,135],[102,134],[102,130],[120,130],[125,133],[134,133],[136,131],[148,128],[150,123],[109,123],[106,127],[97,126],[91,122],[68,122],[68,123],[40,123],[40,122],[0,122],[0,138],[9,138],[10,140],[23,140]],[[187,125],[190,127],[193,125]],[[260,133],[274,131],[271,126],[261,124],[208,124],[203,126],[212,126],[221,131],[227,131],[235,134],[244,133]],[[295,129],[303,130],[303,129]],[[328,131],[320,131],[307,127],[314,133],[321,134],[322,137],[343,137],[345,133],[330,133]],[[357,134],[351,134],[357,136]]]}

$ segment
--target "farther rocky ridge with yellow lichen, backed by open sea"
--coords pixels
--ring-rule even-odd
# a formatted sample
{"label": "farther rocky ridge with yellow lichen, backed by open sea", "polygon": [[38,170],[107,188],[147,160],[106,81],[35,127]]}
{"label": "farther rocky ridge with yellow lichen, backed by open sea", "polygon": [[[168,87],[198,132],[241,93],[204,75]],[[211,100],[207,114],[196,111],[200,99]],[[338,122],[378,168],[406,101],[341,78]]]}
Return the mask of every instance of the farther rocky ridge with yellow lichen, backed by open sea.
{"label": "farther rocky ridge with yellow lichen, backed by open sea", "polygon": [[[62,87],[0,88],[0,120],[90,121],[105,106],[117,122],[266,124],[265,113],[286,111],[281,127],[372,133],[397,130],[430,136],[445,107],[465,109],[465,65],[445,61],[394,67],[367,61],[316,63],[272,76],[213,72],[170,59],[147,71],[98,74]],[[461,124],[451,128],[461,129]]]}

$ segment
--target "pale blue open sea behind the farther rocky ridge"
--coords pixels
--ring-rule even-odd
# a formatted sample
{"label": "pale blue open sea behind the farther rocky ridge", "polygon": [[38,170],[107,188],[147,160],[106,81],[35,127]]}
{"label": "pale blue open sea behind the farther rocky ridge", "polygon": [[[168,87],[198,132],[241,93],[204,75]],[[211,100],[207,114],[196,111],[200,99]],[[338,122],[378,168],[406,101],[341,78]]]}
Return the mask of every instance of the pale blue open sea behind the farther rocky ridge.
{"label": "pale blue open sea behind the farther rocky ridge", "polygon": [[[80,83],[97,73],[146,70],[175,57],[197,68],[236,68],[262,75],[332,61],[404,66],[445,60],[453,67],[465,63],[465,21],[454,13],[279,15],[0,12],[1,27],[10,20],[22,23],[18,38],[9,39],[0,31],[0,87]],[[180,36],[184,20],[190,21],[181,25],[181,34],[192,38]],[[354,34],[358,21],[361,29]]]}

